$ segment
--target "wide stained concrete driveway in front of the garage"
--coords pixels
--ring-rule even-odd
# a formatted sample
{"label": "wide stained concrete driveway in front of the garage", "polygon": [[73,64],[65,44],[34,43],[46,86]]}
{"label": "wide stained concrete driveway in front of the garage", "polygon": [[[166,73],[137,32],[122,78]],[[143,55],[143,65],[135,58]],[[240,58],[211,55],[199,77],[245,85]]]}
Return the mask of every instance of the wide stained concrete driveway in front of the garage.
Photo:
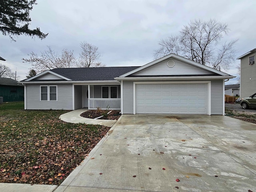
{"label": "wide stained concrete driveway in front of the garage", "polygon": [[227,116],[122,115],[55,192],[248,190],[256,192],[255,124]]}

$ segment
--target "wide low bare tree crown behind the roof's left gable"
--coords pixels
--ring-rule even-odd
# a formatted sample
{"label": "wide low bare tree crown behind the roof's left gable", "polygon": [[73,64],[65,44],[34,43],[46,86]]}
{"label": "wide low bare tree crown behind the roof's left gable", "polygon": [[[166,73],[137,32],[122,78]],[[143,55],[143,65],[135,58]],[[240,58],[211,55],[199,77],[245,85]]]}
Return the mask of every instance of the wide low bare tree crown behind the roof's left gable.
{"label": "wide low bare tree crown behind the roof's left gable", "polygon": [[58,54],[50,46],[47,46],[48,50],[41,52],[41,56],[31,52],[29,59],[22,58],[24,62],[32,64],[36,72],[42,72],[45,70],[51,70],[54,68],[72,68],[76,67],[76,58],[73,51],[63,49],[61,54]]}

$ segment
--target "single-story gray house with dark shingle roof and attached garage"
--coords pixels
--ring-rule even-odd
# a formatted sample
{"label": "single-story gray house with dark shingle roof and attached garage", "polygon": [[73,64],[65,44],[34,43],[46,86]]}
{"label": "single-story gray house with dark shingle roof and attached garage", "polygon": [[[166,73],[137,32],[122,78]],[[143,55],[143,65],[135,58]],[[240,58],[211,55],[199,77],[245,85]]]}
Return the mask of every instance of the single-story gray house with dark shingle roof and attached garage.
{"label": "single-story gray house with dark shingle roof and attached garage", "polygon": [[138,67],[56,68],[19,82],[25,109],[224,115],[224,72],[169,54]]}

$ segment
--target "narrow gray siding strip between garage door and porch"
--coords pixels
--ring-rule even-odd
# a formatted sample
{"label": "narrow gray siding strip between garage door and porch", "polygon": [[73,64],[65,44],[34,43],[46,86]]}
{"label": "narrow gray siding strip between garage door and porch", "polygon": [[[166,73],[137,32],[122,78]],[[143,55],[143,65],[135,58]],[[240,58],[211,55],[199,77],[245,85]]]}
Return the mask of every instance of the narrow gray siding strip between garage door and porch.
{"label": "narrow gray siding strip between garage door and porch", "polygon": [[133,114],[132,81],[123,81],[123,114]]}

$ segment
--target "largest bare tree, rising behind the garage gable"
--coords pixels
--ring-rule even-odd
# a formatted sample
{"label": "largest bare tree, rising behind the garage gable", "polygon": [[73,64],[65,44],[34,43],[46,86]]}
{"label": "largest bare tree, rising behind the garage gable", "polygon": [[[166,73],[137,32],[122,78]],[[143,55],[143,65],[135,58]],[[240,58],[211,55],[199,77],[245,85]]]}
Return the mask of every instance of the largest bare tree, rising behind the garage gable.
{"label": "largest bare tree, rising behind the garage gable", "polygon": [[177,36],[161,39],[158,43],[160,48],[154,51],[154,57],[174,53],[212,68],[227,70],[235,61],[234,44],[238,41],[221,44],[223,35],[229,31],[227,24],[215,19],[190,21]]}

